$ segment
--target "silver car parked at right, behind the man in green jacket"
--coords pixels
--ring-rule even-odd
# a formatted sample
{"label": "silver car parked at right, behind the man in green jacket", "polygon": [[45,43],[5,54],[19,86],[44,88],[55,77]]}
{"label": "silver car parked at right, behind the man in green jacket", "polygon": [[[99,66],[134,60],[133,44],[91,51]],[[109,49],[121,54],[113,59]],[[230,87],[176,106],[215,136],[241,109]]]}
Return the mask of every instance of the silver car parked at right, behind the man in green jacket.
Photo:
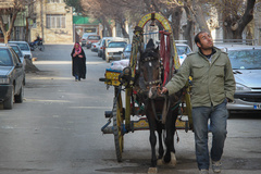
{"label": "silver car parked at right, behind the man in green jacket", "polygon": [[235,100],[227,103],[228,111],[261,113],[261,47],[233,45],[219,48],[228,53],[236,80]]}

